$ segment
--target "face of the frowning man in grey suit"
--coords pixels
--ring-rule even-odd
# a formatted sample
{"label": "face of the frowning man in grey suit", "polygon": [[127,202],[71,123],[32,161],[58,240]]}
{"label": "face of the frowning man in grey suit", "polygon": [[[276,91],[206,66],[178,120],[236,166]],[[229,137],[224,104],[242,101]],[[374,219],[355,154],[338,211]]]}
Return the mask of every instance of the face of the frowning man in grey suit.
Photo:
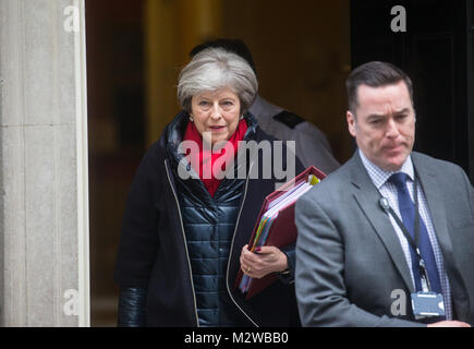
{"label": "face of the frowning man in grey suit", "polygon": [[347,112],[349,132],[364,155],[385,171],[398,171],[415,141],[415,112],[406,84],[357,88],[355,116]]}

